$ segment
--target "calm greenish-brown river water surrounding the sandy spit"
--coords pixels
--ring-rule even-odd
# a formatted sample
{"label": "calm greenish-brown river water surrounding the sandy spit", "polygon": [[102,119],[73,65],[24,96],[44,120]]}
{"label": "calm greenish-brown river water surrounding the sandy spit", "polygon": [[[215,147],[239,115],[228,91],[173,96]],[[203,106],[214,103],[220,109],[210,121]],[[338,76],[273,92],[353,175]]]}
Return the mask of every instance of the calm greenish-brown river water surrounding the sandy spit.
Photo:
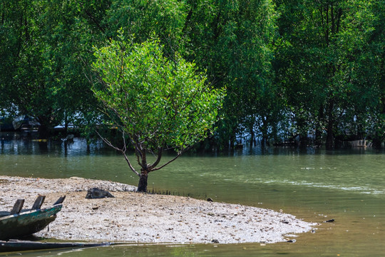
{"label": "calm greenish-brown river water surrounding the sandy spit", "polygon": [[[167,157],[166,157],[167,158]],[[0,174],[107,179],[136,185],[122,156],[83,141],[0,141]],[[43,251],[24,256],[384,256],[385,154],[371,149],[333,151],[268,148],[218,156],[185,155],[151,173],[148,188],[211,197],[292,213],[321,222],[296,243],[127,245]],[[322,221],[334,218],[334,223]],[[1,256],[1,254],[0,254]],[[10,256],[10,255],[9,255]]]}

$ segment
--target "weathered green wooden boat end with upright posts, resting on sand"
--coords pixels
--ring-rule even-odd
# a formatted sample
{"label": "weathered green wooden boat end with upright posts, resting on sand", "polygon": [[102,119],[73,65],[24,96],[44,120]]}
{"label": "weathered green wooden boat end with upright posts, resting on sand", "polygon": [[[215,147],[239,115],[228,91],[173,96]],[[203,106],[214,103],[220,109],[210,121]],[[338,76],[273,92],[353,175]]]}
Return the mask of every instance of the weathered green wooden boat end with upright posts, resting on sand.
{"label": "weathered green wooden boat end with upright posts, resting on sand", "polygon": [[41,209],[46,196],[39,196],[34,206],[29,210],[21,210],[24,199],[16,201],[14,208],[10,212],[0,212],[0,240],[11,238],[21,238],[41,231],[49,223],[56,219],[56,213],[61,211],[61,207],[66,196],[58,198],[50,208]]}

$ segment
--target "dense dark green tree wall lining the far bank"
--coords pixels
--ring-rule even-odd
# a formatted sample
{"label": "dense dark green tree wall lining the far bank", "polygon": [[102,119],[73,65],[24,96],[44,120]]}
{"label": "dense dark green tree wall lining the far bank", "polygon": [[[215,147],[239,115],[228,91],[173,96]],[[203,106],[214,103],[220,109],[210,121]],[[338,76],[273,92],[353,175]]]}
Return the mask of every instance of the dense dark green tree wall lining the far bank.
{"label": "dense dark green tree wall lining the far bank", "polygon": [[384,13],[383,0],[1,0],[1,116],[34,117],[41,137],[58,124],[89,129],[100,118],[93,46],[121,28],[133,44],[159,39],[163,58],[193,62],[227,89],[207,144],[380,146]]}

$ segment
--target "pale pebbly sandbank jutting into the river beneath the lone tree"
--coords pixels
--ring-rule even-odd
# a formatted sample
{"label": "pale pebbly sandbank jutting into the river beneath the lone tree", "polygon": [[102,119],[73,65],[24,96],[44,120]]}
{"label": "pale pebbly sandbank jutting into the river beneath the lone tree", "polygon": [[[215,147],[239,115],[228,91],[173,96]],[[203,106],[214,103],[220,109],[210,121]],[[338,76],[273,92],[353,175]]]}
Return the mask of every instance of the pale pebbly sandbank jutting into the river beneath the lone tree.
{"label": "pale pebbly sandbank jutting into the river beneath the lone tree", "polygon": [[[63,240],[138,243],[276,243],[312,230],[287,213],[182,196],[135,193],[135,187],[84,178],[0,176],[1,211],[17,198],[31,208],[38,194],[48,206],[66,195],[56,221],[36,236]],[[88,188],[110,191],[115,198],[86,199]]]}

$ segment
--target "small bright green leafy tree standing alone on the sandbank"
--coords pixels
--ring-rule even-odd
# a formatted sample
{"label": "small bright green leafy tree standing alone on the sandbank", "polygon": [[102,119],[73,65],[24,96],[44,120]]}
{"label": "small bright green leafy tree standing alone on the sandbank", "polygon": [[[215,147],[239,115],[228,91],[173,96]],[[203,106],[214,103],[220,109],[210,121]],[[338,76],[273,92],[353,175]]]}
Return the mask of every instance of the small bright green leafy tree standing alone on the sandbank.
{"label": "small bright green leafy tree standing alone on the sandbank", "polygon": [[[130,169],[138,175],[138,191],[147,190],[148,173],[175,161],[190,146],[207,137],[217,121],[225,92],[212,89],[195,64],[180,56],[165,58],[158,40],[133,44],[111,40],[96,49],[93,69],[100,83],[93,86],[103,103],[109,123],[123,134],[123,153]],[[140,166],[136,171],[126,151],[126,138],[135,149]],[[160,164],[163,151],[175,149],[175,157]],[[147,154],[155,156],[148,163]]]}

